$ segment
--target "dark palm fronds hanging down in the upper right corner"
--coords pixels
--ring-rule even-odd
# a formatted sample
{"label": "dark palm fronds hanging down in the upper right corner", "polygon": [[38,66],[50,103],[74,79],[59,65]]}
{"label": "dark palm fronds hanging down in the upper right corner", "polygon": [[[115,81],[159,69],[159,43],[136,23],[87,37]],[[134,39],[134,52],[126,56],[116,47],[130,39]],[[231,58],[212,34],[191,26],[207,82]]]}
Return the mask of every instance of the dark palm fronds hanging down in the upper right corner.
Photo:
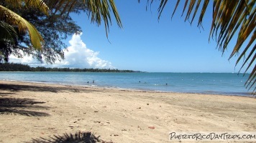
{"label": "dark palm fronds hanging down in the upper right corner", "polygon": [[[154,0],[147,0],[148,5],[152,4],[153,2]],[[160,4],[157,9],[158,19],[160,19],[163,9],[165,9],[168,2],[168,0],[160,0]],[[189,20],[192,24],[196,14],[199,13],[198,27],[202,27],[204,14],[206,9],[209,9],[210,7],[210,0],[186,0],[183,2],[182,16],[183,14],[186,14],[185,21]],[[237,43],[234,45],[229,59],[231,59],[234,55],[238,55],[236,66],[239,62],[242,62],[239,72],[241,69],[245,69],[244,73],[246,73],[250,67],[253,68],[245,86],[249,89],[252,88],[252,91],[254,94],[256,94],[256,86],[254,87],[256,82],[255,0],[213,0],[211,2],[213,2],[213,13],[209,39],[211,37],[214,39],[215,37],[217,47],[223,54],[229,45],[229,41],[234,39],[234,36],[237,36]],[[179,5],[180,0],[177,0],[175,8],[173,9],[172,17]],[[199,10],[199,7],[201,7],[201,10]]]}

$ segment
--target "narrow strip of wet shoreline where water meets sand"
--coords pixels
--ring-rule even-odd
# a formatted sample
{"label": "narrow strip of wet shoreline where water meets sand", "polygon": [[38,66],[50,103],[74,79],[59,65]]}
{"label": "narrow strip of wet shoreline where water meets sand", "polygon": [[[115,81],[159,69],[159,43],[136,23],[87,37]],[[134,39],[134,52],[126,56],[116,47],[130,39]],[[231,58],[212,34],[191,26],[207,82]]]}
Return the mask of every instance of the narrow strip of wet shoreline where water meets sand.
{"label": "narrow strip of wet shoreline where water meets sand", "polygon": [[[160,90],[149,90],[149,89],[129,89],[122,87],[101,87],[101,86],[93,86],[93,85],[82,85],[82,84],[63,84],[63,83],[52,83],[52,82],[29,82],[29,81],[17,81],[17,80],[8,80],[8,79],[0,79],[0,81],[6,82],[24,82],[24,83],[35,83],[35,84],[50,84],[50,85],[63,85],[63,86],[72,86],[72,87],[88,87],[88,88],[96,88],[96,89],[116,89],[122,91],[134,91],[134,92],[159,92],[159,93],[177,93],[177,94],[206,94],[206,95],[221,95],[221,96],[234,96],[234,97],[250,97],[256,98],[250,92],[246,93],[238,93],[238,94],[227,94],[226,92],[172,92],[172,91],[160,91]],[[225,94],[226,93],[226,94]]]}

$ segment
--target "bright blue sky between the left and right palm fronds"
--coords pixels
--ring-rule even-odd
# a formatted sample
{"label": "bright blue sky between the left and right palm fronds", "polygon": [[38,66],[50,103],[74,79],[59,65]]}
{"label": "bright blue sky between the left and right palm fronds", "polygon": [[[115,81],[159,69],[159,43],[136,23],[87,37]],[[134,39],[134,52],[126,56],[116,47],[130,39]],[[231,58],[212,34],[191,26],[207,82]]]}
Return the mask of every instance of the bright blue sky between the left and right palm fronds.
{"label": "bright blue sky between the left and right palm fronds", "polygon": [[[96,24],[91,24],[86,14],[73,14],[73,19],[83,31],[83,34],[76,38],[85,44],[86,50],[91,50],[91,54],[80,55],[81,58],[94,55],[91,57],[98,59],[91,58],[91,60],[95,63],[98,61],[103,63],[105,66],[102,67],[138,71],[239,71],[240,64],[235,67],[236,57],[228,60],[234,41],[229,44],[228,51],[223,55],[216,49],[216,42],[212,39],[209,41],[211,9],[206,11],[203,30],[197,27],[198,19],[195,19],[192,25],[188,21],[184,22],[185,16],[181,17],[182,4],[178,7],[173,19],[170,19],[173,12],[171,8],[174,5],[174,2],[169,3],[158,21],[157,3],[152,4],[151,10],[146,11],[146,2],[139,4],[137,0],[116,1],[123,28],[120,29],[112,19],[109,39],[106,38],[104,24],[98,27]],[[69,46],[70,39],[72,36],[65,41]],[[74,54],[73,58],[76,57],[78,56]],[[76,61],[81,60],[76,59]],[[99,67],[95,66],[96,64],[94,66],[86,64],[88,61],[90,58],[84,62],[73,62],[76,65],[73,64],[71,67]],[[60,64],[53,66],[60,66]]]}

